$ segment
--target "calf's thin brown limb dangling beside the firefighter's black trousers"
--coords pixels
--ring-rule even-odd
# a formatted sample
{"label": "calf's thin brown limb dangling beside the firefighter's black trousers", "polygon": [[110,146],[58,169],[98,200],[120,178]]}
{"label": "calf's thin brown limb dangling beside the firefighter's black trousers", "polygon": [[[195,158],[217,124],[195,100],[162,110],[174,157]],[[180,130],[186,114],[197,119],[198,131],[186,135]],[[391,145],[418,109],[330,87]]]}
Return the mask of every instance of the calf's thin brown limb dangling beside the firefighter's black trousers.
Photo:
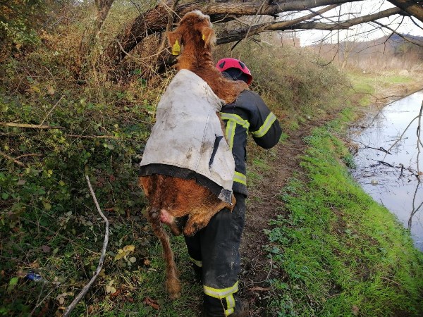
{"label": "calf's thin brown limb dangling beside the firefighter's black trousers", "polygon": [[164,260],[166,262],[166,288],[171,299],[177,299],[180,297],[180,281],[169,237],[160,223],[160,210],[157,208],[149,209],[147,217],[149,223],[152,224],[154,235],[157,235],[163,247]]}

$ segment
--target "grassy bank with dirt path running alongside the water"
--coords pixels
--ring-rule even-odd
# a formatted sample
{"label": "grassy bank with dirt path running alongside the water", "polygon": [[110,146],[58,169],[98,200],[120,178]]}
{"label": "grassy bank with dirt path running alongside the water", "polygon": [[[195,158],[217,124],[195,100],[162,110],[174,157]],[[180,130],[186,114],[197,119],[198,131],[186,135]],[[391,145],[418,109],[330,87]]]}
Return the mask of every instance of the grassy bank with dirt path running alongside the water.
{"label": "grassy bank with dirt path running alongside the water", "polygon": [[[259,196],[263,188],[266,194],[250,199],[249,213],[260,213],[261,221],[247,225],[246,232],[254,235],[262,223],[270,241],[261,242],[268,252],[262,265],[254,251],[247,251],[250,243],[244,249],[250,274],[259,276],[245,275],[246,294],[257,313],[422,314],[422,253],[396,218],[348,175],[353,159],[343,140],[348,123],[423,84],[396,75],[350,78],[350,106],[341,116],[319,128],[313,128],[316,123],[302,125],[274,154],[264,154],[253,164],[253,173],[263,175],[254,194]],[[295,160],[293,154],[300,157]],[[269,216],[271,225],[266,227]],[[257,288],[255,282],[263,279],[269,283]]]}

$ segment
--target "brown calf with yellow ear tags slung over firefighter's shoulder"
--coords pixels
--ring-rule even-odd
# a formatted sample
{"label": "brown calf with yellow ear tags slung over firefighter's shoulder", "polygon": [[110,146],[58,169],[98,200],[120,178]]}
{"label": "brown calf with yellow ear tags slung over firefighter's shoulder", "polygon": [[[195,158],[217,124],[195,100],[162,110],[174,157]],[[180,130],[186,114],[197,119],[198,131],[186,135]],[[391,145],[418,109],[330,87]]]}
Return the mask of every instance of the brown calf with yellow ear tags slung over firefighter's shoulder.
{"label": "brown calf with yellow ear tags slung over firefighter's shoulder", "polygon": [[[178,54],[178,70],[187,69],[200,76],[220,98],[231,103],[240,92],[247,89],[247,84],[224,78],[212,61],[212,44],[216,37],[209,16],[200,11],[184,15],[179,26],[168,33],[168,42],[174,54]],[[223,133],[224,134],[224,133]],[[164,249],[166,261],[166,287],[172,299],[180,296],[180,282],[173,259],[168,235],[161,225],[164,213],[173,219],[188,216],[184,227],[185,235],[193,235],[209,223],[210,218],[221,209],[233,209],[233,204],[218,199],[207,187],[197,184],[195,180],[173,178],[167,175],[147,175],[138,180],[149,201],[147,220],[152,224],[154,234]],[[180,234],[178,225],[170,224],[173,234]]]}

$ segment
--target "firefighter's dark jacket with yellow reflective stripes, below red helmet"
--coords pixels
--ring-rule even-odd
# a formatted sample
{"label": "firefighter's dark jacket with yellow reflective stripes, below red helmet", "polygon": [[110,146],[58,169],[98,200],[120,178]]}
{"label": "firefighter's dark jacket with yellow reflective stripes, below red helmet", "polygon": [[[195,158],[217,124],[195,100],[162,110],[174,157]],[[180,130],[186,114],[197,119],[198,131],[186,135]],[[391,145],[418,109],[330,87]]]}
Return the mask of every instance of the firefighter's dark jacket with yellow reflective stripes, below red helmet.
{"label": "firefighter's dark jacket with yellow reflective stripes, below red helmet", "polygon": [[223,106],[221,118],[226,124],[226,139],[235,159],[233,191],[247,195],[247,135],[250,132],[257,145],[270,149],[281,137],[281,126],[263,99],[250,90],[241,92],[234,104]]}

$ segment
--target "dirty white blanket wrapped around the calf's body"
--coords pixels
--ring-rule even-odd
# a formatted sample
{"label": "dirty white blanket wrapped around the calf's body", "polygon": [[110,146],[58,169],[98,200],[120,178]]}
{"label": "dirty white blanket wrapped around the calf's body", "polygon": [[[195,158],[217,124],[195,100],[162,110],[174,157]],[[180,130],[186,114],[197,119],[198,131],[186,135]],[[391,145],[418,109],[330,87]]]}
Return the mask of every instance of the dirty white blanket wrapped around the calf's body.
{"label": "dirty white blanket wrapped around the calf's body", "polygon": [[[190,70],[180,70],[157,106],[140,166],[188,168],[232,192],[235,162],[216,116],[222,104],[207,82]],[[226,201],[228,192],[223,192],[219,198]]]}

